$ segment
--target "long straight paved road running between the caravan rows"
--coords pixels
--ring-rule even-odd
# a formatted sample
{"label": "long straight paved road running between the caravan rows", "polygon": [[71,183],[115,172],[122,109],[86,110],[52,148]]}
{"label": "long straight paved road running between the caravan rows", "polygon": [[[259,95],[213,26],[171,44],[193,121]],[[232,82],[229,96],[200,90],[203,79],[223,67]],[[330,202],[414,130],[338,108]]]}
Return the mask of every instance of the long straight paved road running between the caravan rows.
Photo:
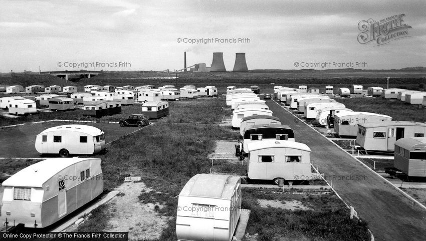
{"label": "long straight paved road running between the caravan rows", "polygon": [[337,193],[369,223],[376,240],[426,240],[426,210],[273,101],[266,104],[294,130],[297,142],[311,148],[313,164],[328,182],[334,179]]}

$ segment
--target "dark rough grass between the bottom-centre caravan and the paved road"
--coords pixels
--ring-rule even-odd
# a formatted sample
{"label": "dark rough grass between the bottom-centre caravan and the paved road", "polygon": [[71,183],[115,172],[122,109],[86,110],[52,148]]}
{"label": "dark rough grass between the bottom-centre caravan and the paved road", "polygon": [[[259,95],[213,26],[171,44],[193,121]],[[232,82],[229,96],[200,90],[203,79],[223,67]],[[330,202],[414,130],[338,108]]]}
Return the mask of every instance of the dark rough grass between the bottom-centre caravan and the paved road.
{"label": "dark rough grass between the bottom-centre caravan and the paved road", "polygon": [[[367,223],[350,219],[349,210],[333,194],[288,195],[270,190],[244,188],[243,208],[251,209],[246,232],[258,240],[306,238],[309,240],[367,240]],[[263,208],[258,199],[299,200],[314,210]]]}

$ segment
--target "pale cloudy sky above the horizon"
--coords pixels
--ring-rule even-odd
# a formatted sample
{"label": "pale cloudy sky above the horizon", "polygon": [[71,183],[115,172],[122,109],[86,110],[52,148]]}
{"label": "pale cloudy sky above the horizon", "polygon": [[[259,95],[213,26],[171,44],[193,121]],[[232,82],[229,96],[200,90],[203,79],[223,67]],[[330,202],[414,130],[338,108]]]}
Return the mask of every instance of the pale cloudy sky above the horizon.
{"label": "pale cloudy sky above the horizon", "polygon": [[[227,70],[236,53],[246,53],[249,69],[426,67],[424,0],[0,0],[0,6],[0,72],[172,71],[183,68],[185,51],[187,66],[210,66],[212,53],[223,52]],[[358,42],[360,21],[400,14],[411,27],[406,38]]]}

